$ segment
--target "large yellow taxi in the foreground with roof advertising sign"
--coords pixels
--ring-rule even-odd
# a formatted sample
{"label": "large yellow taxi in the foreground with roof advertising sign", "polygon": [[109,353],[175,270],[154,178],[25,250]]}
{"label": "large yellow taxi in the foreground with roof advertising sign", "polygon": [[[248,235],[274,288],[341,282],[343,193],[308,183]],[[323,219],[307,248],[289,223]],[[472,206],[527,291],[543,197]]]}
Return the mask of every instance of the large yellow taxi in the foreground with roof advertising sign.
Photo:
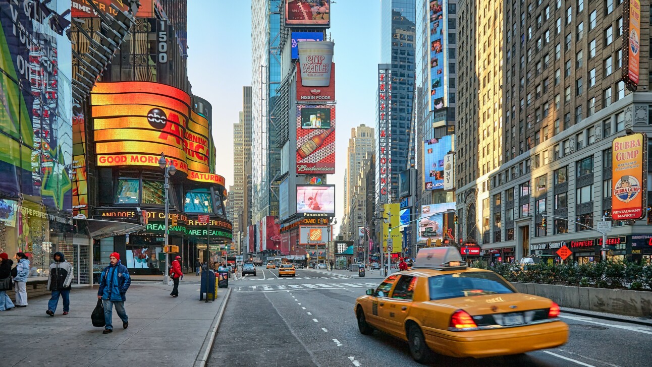
{"label": "large yellow taxi in the foreground with roof advertising sign", "polygon": [[495,272],[466,266],[454,247],[424,248],[411,270],[391,274],[355,302],[362,334],[406,340],[413,359],[432,352],[494,357],[554,348],[569,327],[550,299],[518,293]]}

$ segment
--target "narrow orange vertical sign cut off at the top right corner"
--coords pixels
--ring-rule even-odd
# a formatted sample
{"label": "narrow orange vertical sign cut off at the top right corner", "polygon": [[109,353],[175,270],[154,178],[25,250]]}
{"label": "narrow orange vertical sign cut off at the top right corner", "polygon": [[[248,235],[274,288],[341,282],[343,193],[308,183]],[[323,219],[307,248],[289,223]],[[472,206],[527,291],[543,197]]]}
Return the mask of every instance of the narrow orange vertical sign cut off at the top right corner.
{"label": "narrow orange vertical sign cut off at the top right corner", "polygon": [[640,61],[641,48],[641,1],[627,0],[623,6],[623,27],[628,37],[623,36],[623,80],[634,90],[638,85],[638,63]]}

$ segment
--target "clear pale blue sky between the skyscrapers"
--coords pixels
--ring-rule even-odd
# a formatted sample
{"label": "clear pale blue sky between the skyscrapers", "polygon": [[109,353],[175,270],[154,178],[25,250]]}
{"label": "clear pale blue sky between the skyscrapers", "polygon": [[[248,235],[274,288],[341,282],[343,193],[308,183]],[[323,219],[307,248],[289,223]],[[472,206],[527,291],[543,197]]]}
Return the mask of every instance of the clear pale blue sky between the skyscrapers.
{"label": "clear pale blue sky between the skyscrapers", "polygon": [[[335,0],[336,174],[338,222],[344,205],[346,147],[351,128],[375,125],[380,62],[380,1]],[[188,77],[192,93],[213,105],[217,173],[233,184],[233,123],[242,110],[242,87],[251,85],[251,1],[188,0]],[[339,226],[337,226],[339,227]]]}

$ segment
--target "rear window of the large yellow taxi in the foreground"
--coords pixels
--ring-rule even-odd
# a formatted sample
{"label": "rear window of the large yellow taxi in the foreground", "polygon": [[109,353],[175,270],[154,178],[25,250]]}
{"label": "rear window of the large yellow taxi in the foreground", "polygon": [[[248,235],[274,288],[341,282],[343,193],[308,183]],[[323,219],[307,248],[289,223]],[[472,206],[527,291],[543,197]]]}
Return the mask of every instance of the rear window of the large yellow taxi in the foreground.
{"label": "rear window of the large yellow taxi in the foreground", "polygon": [[478,295],[516,293],[493,272],[457,272],[428,278],[430,301]]}

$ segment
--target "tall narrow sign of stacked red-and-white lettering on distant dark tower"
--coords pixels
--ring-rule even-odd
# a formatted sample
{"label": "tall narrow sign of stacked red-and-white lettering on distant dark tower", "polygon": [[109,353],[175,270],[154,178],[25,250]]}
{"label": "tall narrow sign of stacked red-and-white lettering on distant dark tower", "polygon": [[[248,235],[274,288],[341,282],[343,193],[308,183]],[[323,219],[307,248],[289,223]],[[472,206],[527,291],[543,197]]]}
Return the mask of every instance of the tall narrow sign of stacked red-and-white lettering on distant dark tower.
{"label": "tall narrow sign of stacked red-and-white lettering on distant dark tower", "polygon": [[390,163],[391,131],[392,131],[392,69],[389,64],[378,65],[378,174],[376,184],[380,193],[380,202],[390,201],[389,188],[391,186]]}

